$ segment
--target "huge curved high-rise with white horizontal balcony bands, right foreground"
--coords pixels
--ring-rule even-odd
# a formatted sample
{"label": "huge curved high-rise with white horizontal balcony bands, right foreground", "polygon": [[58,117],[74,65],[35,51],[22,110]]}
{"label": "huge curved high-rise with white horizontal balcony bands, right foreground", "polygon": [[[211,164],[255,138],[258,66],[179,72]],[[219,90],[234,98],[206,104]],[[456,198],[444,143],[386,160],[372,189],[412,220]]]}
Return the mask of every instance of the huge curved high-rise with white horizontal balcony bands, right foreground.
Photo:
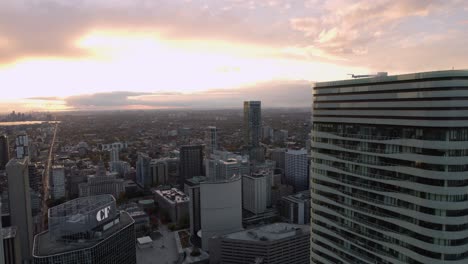
{"label": "huge curved high-rise with white horizontal balcony bands, right foreground", "polygon": [[468,71],[317,83],[312,263],[468,262]]}

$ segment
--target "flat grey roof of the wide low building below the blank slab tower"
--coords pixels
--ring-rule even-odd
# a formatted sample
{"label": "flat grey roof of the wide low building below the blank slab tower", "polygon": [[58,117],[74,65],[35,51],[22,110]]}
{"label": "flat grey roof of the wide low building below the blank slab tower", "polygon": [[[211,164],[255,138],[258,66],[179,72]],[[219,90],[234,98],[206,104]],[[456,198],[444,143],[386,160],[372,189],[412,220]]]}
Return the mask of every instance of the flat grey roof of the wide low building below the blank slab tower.
{"label": "flat grey roof of the wide low building below the blank slab tower", "polygon": [[309,233],[310,226],[288,223],[275,223],[225,235],[225,238],[244,241],[276,241],[288,237]]}

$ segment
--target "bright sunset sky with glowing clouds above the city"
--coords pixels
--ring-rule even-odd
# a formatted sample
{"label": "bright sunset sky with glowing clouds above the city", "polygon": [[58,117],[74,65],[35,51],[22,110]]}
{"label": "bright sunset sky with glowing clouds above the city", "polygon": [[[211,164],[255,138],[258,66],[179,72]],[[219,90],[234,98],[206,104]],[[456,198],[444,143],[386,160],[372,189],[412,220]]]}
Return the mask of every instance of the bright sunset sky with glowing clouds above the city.
{"label": "bright sunset sky with glowing clouds above the city", "polygon": [[465,0],[1,0],[0,112],[310,107],[314,82],[466,47]]}

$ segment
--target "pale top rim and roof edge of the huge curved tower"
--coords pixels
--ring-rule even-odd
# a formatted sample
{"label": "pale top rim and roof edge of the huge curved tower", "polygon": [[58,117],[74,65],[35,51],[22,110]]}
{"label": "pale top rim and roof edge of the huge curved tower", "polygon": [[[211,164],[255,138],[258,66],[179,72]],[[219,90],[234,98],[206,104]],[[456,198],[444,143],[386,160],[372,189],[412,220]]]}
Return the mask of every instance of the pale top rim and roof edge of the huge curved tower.
{"label": "pale top rim and roof edge of the huge curved tower", "polygon": [[468,77],[468,70],[448,70],[448,71],[431,71],[431,72],[418,72],[392,76],[376,76],[370,78],[357,78],[350,80],[339,80],[329,82],[318,82],[315,84],[316,88],[328,86],[344,86],[344,85],[359,85],[359,84],[373,84],[385,82],[398,82],[409,80],[421,80],[442,77]]}

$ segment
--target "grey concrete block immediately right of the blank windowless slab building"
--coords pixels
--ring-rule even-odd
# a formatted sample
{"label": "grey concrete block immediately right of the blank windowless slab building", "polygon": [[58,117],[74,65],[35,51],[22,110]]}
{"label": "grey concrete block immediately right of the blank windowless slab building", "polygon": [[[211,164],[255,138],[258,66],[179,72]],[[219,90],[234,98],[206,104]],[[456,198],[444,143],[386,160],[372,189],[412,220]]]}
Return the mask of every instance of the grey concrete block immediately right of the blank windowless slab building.
{"label": "grey concrete block immediately right of the blank windowless slab building", "polygon": [[269,170],[242,176],[242,205],[245,210],[260,214],[271,206],[271,179]]}

